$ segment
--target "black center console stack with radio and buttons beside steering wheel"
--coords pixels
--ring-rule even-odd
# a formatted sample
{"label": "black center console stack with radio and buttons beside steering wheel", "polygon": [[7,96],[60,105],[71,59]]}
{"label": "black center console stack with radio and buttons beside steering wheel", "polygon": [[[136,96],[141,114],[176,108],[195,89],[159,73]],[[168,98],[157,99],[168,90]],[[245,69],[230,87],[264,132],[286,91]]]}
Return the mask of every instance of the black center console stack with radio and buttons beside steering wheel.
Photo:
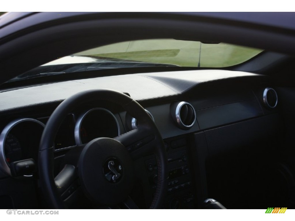
{"label": "black center console stack with radio and buttons beside steering wheel", "polygon": [[[194,184],[192,179],[191,154],[186,137],[165,139],[168,154],[168,189],[164,209],[195,208]],[[155,193],[157,185],[157,163],[154,156],[145,159],[150,192]]]}

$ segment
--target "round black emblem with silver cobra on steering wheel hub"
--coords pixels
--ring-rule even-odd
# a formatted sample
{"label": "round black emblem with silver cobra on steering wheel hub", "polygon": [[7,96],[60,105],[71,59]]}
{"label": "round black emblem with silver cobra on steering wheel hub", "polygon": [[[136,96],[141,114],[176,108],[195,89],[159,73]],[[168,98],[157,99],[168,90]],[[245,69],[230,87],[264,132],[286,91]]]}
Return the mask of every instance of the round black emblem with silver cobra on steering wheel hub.
{"label": "round black emblem with silver cobra on steering wheel hub", "polygon": [[104,164],[104,176],[111,183],[119,182],[123,174],[120,162],[115,158],[108,159]]}

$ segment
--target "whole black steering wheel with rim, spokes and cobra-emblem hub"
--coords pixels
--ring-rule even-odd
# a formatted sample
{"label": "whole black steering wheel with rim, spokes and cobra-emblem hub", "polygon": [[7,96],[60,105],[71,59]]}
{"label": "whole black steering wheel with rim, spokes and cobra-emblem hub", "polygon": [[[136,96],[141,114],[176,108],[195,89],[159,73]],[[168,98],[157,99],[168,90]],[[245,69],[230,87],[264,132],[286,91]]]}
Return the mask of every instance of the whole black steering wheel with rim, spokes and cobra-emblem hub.
{"label": "whole black steering wheel with rim, spokes and cobra-emblem hub", "polygon": [[[115,138],[96,138],[76,146],[65,155],[67,164],[54,177],[54,140],[61,122],[75,108],[94,100],[111,101],[137,119],[138,127]],[[154,153],[158,182],[150,209],[160,208],[168,185],[168,161],[163,139],[152,118],[129,96],[109,89],[77,93],[64,100],[52,113],[40,141],[38,169],[42,191],[50,207],[68,208],[77,195],[93,205],[124,203],[137,208],[129,197],[134,182],[133,161]]]}

